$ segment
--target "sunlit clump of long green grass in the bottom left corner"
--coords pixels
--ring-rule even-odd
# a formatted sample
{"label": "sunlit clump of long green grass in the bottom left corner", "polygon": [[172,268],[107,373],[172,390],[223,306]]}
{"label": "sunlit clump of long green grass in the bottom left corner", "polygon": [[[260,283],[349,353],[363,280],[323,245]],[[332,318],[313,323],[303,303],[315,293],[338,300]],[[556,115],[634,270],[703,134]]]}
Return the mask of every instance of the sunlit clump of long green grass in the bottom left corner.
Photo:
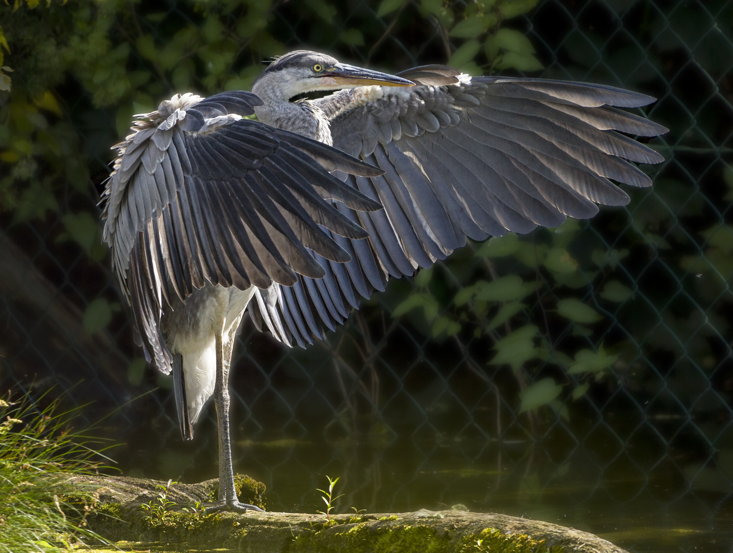
{"label": "sunlit clump of long green grass in the bottom left corner", "polygon": [[95,442],[70,430],[76,415],[78,409],[60,412],[58,401],[39,409],[0,398],[0,553],[61,553],[89,540],[106,543],[86,527],[95,491],[75,486],[64,493],[70,477],[101,467],[100,453],[90,447]]}

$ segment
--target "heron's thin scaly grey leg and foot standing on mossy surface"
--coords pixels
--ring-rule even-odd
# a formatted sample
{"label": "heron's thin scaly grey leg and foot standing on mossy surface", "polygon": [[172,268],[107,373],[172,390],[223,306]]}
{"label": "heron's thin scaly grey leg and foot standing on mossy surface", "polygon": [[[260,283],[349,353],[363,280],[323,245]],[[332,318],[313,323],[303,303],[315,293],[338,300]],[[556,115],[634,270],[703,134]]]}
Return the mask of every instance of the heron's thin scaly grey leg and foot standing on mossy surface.
{"label": "heron's thin scaly grey leg and foot standing on mossy surface", "polygon": [[232,464],[232,441],[229,437],[229,363],[232,360],[234,334],[229,333],[229,343],[224,346],[222,333],[216,335],[216,385],[214,403],[219,428],[219,500],[207,512],[212,511],[262,511],[255,505],[240,503],[234,485],[234,466]]}

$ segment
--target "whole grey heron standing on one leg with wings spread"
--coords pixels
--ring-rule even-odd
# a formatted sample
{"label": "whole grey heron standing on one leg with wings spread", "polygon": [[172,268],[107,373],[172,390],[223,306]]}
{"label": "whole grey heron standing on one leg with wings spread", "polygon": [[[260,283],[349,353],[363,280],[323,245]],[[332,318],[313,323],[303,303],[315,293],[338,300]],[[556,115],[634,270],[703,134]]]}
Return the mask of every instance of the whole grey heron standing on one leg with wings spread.
{"label": "whole grey heron standing on one leg with wings spread", "polygon": [[[323,90],[336,92],[292,101]],[[117,146],[104,238],[139,344],[173,373],[185,439],[214,398],[215,508],[254,508],[235,496],[229,442],[229,364],[246,309],[259,330],[305,346],[388,278],[468,238],[626,204],[611,179],[649,186],[629,161],[663,160],[627,135],[666,129],[618,108],[652,101],[437,65],[392,76],[295,51],[252,92],[177,95],[139,116]],[[253,112],[259,122],[242,118]]]}

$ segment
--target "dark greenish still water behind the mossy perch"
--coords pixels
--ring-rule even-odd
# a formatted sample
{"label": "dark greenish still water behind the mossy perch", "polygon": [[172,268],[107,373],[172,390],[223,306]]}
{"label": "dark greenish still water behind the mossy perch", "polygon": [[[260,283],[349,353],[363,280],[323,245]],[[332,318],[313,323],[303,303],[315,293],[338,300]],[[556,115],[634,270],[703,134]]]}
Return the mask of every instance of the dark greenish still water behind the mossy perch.
{"label": "dark greenish still water behind the mossy perch", "polygon": [[[179,471],[182,481],[213,478],[215,434],[210,436],[169,451],[155,471],[163,474],[148,476]],[[685,478],[689,467],[675,468],[674,459],[662,458],[654,470],[641,471],[618,462],[599,466],[583,448],[557,464],[550,453],[527,443],[414,439],[240,441],[236,456],[237,472],[268,486],[270,511],[322,510],[316,489],[327,488],[328,475],[340,478],[339,513],[439,510],[460,503],[473,512],[592,532],[632,553],[733,552],[733,494],[721,493],[727,475],[707,470],[704,480],[690,480]]]}

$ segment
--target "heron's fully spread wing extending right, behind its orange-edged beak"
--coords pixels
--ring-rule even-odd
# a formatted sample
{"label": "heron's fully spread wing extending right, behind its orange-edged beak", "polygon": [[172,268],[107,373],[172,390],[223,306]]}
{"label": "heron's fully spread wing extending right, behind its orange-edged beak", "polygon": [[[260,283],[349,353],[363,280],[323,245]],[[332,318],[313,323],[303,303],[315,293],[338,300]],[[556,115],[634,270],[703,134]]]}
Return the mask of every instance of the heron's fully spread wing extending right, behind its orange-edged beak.
{"label": "heron's fully spread wing extending right, behind its orange-edged beak", "polygon": [[367,229],[369,242],[337,239],[344,248],[350,242],[349,263],[330,263],[323,280],[300,278],[292,289],[273,287],[251,303],[254,320],[277,338],[301,345],[320,338],[322,325],[341,323],[386,278],[429,267],[466,237],[526,233],[559,226],[566,215],[590,218],[596,204],[625,205],[629,197],[611,181],[649,186],[629,161],[663,161],[626,135],[666,129],[618,109],[652,97],[611,86],[456,73],[418,67],[401,76],[424,85],[455,83],[343,90],[321,100],[333,117],[334,146],[385,171],[347,177],[385,209],[339,207]]}

